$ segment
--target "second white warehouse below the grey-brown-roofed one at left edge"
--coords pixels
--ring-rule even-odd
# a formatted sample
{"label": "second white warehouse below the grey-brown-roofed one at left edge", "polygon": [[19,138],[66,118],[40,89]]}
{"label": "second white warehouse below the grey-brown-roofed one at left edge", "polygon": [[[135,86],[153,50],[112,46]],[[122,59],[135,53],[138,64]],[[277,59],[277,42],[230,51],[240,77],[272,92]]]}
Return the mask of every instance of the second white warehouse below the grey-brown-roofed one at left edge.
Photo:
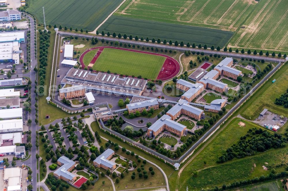
{"label": "second white warehouse below the grey-brown-roofed one at left edge", "polygon": [[0,120],[0,133],[18,131],[23,131],[22,119]]}

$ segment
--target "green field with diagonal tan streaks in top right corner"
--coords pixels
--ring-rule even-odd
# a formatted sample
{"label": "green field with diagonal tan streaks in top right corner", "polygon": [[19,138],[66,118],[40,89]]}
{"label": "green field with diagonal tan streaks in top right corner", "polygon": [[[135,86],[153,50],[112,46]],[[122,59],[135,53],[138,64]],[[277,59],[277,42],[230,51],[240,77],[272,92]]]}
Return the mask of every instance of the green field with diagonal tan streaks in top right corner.
{"label": "green field with diagonal tan streaks in top right corner", "polygon": [[288,22],[287,14],[287,1],[259,1],[228,46],[287,52],[288,32],[283,27]]}

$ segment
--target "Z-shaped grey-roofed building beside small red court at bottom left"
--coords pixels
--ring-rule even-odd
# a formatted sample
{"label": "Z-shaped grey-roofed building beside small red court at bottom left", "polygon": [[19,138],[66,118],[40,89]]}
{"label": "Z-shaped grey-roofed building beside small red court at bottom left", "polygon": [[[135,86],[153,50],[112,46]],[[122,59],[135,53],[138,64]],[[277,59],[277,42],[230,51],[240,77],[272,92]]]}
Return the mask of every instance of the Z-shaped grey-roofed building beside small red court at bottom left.
{"label": "Z-shaped grey-roofed building beside small red court at bottom left", "polygon": [[77,179],[77,176],[72,174],[70,171],[75,168],[76,163],[65,156],[61,156],[57,160],[57,164],[61,167],[54,171],[54,176],[58,179],[66,181],[69,184],[73,184],[73,182]]}

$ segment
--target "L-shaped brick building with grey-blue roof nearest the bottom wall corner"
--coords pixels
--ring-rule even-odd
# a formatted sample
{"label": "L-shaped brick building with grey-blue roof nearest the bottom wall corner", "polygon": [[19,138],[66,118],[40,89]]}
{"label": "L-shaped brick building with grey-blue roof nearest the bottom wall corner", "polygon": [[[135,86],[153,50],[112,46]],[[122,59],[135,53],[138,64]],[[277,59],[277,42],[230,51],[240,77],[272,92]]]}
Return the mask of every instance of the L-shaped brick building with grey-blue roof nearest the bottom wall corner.
{"label": "L-shaped brick building with grey-blue roof nearest the bottom wall corner", "polygon": [[154,124],[147,129],[147,136],[149,138],[156,137],[163,130],[175,133],[176,135],[183,136],[186,132],[186,126],[176,121],[173,121],[169,115],[163,115]]}

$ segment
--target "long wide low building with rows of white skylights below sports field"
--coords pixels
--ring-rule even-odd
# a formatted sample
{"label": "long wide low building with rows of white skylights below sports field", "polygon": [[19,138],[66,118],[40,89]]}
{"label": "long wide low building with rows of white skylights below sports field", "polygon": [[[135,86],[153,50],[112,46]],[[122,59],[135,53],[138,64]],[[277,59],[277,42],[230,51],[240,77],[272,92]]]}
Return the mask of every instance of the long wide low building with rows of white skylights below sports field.
{"label": "long wide low building with rows of white skylights below sports field", "polygon": [[71,68],[61,81],[65,84],[84,85],[87,92],[98,92],[105,95],[132,97],[142,95],[147,80],[121,77],[115,74],[94,73],[88,70]]}

